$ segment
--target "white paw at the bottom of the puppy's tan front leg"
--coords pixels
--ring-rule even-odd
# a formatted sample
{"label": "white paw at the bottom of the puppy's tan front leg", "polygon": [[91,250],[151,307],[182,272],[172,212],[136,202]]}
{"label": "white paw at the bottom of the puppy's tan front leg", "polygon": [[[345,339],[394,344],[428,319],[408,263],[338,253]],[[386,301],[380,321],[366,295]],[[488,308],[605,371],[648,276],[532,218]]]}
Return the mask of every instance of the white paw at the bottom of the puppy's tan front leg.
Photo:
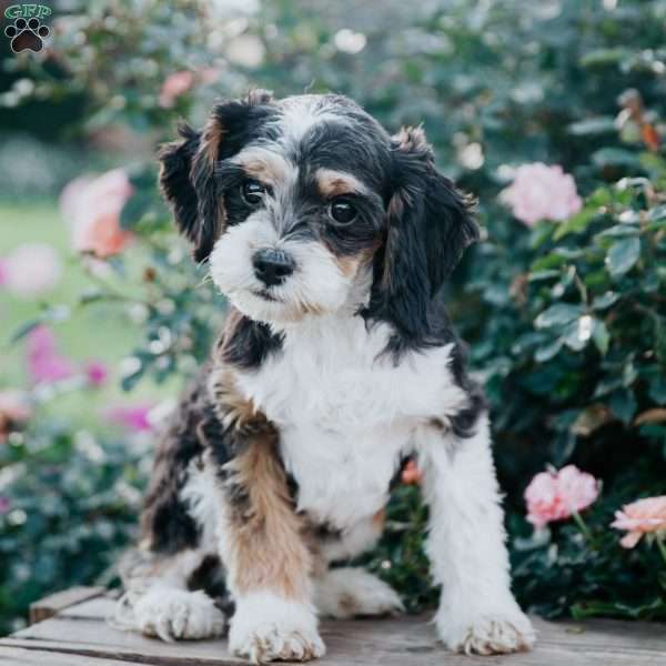
{"label": "white paw at the bottom of the puppy's tan front leg", "polygon": [[234,655],[253,664],[307,662],[326,652],[316,629],[314,609],[271,593],[238,599],[229,646]]}

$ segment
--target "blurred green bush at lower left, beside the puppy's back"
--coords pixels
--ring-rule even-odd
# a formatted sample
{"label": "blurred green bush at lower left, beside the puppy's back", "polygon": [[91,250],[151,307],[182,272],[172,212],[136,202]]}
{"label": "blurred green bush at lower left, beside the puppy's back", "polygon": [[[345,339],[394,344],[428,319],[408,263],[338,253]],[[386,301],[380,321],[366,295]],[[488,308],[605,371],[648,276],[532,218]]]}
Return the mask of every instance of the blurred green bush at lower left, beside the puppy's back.
{"label": "blurred green bush at lower left, beside the puppy's back", "polygon": [[56,588],[114,578],[135,529],[147,448],[39,415],[0,446],[0,632]]}

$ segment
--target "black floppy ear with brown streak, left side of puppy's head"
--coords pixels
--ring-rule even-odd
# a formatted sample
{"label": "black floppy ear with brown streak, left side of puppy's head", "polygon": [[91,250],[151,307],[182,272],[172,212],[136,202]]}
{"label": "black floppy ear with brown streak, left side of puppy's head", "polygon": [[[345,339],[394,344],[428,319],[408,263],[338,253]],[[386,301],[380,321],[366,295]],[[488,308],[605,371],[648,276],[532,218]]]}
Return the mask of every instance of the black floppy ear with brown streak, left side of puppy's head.
{"label": "black floppy ear with brown streak, left side of puppy's head", "polygon": [[181,123],[181,140],[168,143],[158,155],[162,194],[176,226],[194,244],[195,261],[208,259],[226,221],[215,163],[241,150],[252,109],[272,99],[270,92],[254,90],[241,100],[219,103],[201,132]]}

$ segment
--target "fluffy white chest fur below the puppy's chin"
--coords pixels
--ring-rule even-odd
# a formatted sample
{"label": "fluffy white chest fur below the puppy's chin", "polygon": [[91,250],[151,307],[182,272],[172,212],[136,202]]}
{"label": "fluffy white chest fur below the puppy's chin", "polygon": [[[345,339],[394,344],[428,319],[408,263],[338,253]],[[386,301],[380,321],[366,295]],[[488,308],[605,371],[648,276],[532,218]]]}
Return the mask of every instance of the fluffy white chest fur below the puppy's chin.
{"label": "fluffy white chest fur below the puppy's chin", "polygon": [[413,432],[465,403],[448,370],[451,345],[380,356],[386,325],[311,316],[284,331],[281,352],[243,372],[239,387],[280,428],[299,508],[339,528],[379,511]]}

